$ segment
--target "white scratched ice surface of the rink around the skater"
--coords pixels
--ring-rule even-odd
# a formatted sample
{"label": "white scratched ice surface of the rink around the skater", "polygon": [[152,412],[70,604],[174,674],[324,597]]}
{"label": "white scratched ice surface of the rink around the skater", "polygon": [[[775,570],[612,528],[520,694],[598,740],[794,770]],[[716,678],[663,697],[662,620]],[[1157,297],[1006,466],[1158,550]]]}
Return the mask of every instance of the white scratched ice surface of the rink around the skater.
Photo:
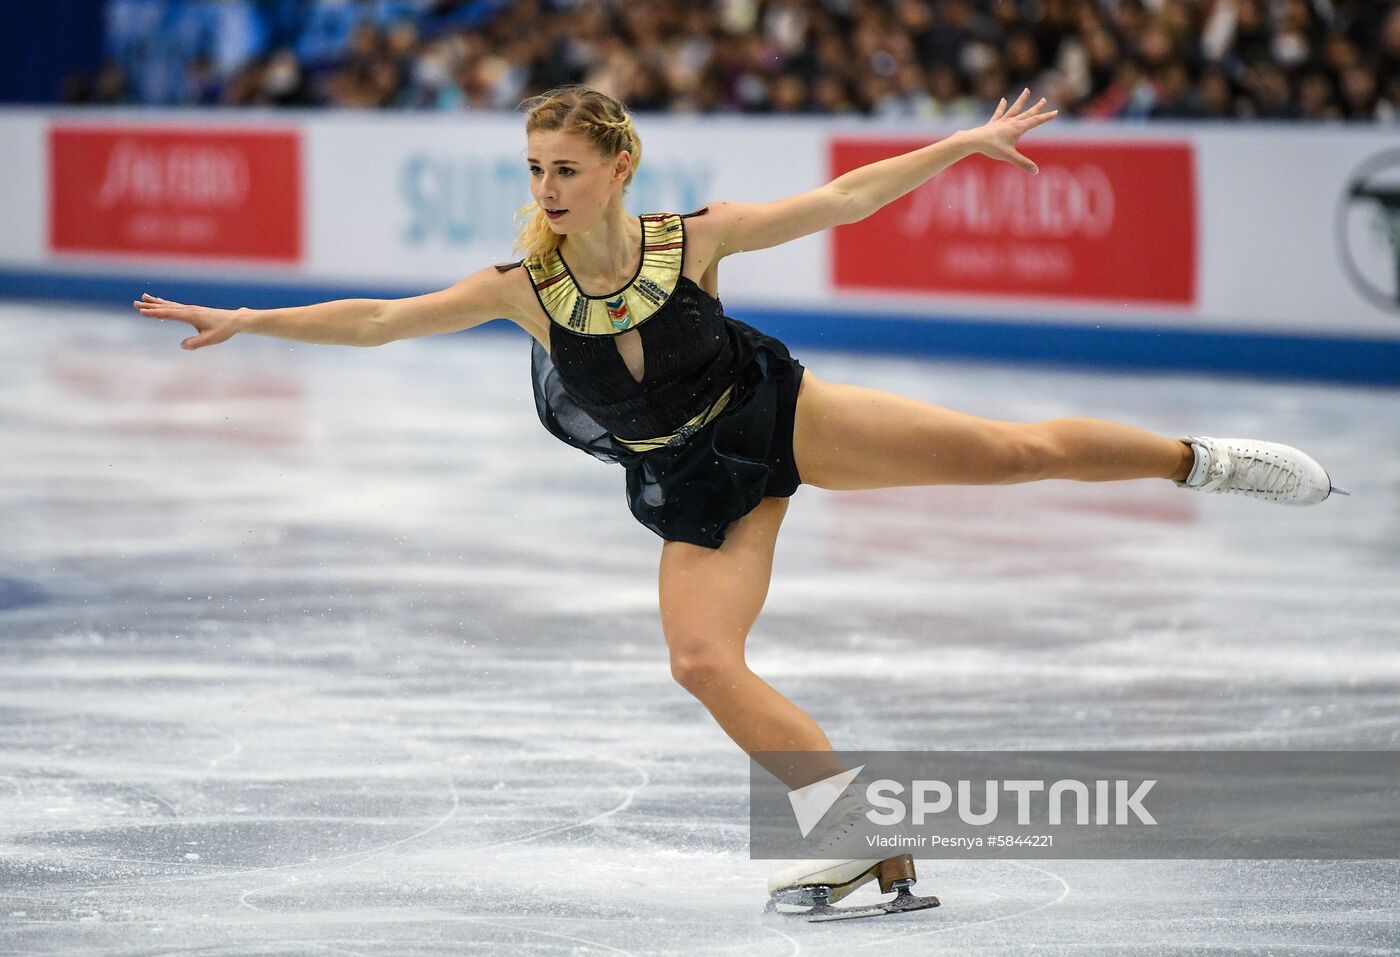
{"label": "white scratched ice surface of the rink around the skater", "polygon": [[[764,916],[659,539],[529,340],[188,334],[0,306],[0,954],[1400,951],[1397,862],[921,860],[941,908]],[[804,487],[749,652],[836,747],[1400,749],[1400,393],[794,354],[1354,492]]]}

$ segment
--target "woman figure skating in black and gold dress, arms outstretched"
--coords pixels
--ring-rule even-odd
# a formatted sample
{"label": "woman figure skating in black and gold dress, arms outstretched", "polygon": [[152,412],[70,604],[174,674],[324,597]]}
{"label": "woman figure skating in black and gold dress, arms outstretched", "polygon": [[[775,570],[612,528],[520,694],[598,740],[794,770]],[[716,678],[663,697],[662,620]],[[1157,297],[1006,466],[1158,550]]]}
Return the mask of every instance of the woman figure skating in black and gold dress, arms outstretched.
{"label": "woman figure skating in black and gold dress, arms outstretched", "polygon": [[[179,319],[203,348],[237,333],[378,346],[505,316],[533,339],[535,397],[556,437],[627,473],[633,513],[664,539],[661,624],[676,681],[788,786],[839,771],[822,729],[745,665],[743,644],[769,589],[773,548],[798,484],[882,488],[1039,478],[1158,477],[1204,491],[1320,502],[1326,472],[1288,446],[1161,438],[1099,420],[1014,424],[888,392],[818,379],[776,339],[725,316],[725,256],[861,220],[953,162],[983,154],[1035,173],[1016,150],[1051,120],[1029,91],[991,119],[913,153],[854,169],[773,203],[711,203],[686,215],[630,217],[623,193],[641,141],[622,104],[564,87],[528,101],[532,203],[519,263],[405,299],[342,299],[291,309],[207,309],[151,295],[147,316]],[[815,777],[813,777],[815,775]],[[837,803],[837,817],[860,811]],[[907,858],[801,862],[770,890],[839,900],[879,877],[913,877]],[[907,886],[907,884],[906,884]]]}

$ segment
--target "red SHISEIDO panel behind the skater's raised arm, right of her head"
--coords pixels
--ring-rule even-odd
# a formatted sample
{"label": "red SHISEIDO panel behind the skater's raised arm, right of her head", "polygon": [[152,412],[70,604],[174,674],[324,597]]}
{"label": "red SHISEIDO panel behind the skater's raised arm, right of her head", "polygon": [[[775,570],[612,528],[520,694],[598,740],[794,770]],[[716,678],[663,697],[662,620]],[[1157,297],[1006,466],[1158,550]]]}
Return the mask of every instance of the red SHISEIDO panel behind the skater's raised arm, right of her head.
{"label": "red SHISEIDO panel behind the skater's raised arm, right of her head", "polygon": [[[832,176],[927,140],[836,139]],[[1026,143],[1040,173],[970,157],[836,229],[841,290],[1196,302],[1189,143]]]}

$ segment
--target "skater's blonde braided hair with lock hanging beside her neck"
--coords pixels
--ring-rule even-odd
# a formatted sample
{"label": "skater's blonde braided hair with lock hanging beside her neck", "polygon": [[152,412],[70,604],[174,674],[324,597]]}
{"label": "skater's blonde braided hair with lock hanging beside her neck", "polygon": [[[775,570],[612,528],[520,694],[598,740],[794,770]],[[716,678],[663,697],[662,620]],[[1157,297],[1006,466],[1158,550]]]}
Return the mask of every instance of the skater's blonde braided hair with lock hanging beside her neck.
{"label": "skater's blonde braided hair with lock hanging beside her neck", "polygon": [[[554,130],[577,133],[605,160],[616,157],[623,150],[630,153],[631,169],[627,172],[623,189],[631,186],[631,178],[637,175],[637,166],[641,164],[641,139],[631,126],[627,108],[620,102],[598,90],[570,84],[531,97],[519,108],[525,113],[526,134]],[[536,203],[526,203],[515,213],[515,221],[522,220],[524,225],[515,236],[515,249],[525,253],[526,259],[539,259],[559,249],[561,238],[549,228],[545,210]]]}

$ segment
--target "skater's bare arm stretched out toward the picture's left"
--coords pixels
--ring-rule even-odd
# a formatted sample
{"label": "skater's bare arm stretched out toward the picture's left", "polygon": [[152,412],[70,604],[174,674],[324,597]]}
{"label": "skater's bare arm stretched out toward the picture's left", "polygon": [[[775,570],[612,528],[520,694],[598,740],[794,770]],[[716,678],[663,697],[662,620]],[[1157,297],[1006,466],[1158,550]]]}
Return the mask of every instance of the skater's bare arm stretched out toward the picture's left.
{"label": "skater's bare arm stretched out toward the picture's left", "polygon": [[470,329],[498,316],[515,316],[512,287],[494,267],[427,295],[403,299],[335,299],[286,309],[210,309],[143,294],[132,305],[143,316],[188,322],[199,333],[181,343],[195,350],[238,333],[298,343],[384,346],[399,339]]}

